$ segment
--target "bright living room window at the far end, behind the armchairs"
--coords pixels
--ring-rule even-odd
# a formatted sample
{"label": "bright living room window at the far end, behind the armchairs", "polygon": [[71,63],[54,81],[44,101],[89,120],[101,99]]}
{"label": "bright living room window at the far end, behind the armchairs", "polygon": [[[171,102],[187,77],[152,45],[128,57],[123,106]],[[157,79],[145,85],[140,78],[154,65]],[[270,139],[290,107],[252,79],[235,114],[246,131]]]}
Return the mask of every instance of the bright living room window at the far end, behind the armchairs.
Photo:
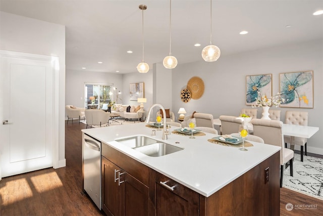
{"label": "bright living room window at the far end, behind the armchairs", "polygon": [[109,104],[112,99],[112,89],[113,84],[86,82],[84,85],[85,108],[88,109],[89,105],[93,105],[99,109],[102,104]]}

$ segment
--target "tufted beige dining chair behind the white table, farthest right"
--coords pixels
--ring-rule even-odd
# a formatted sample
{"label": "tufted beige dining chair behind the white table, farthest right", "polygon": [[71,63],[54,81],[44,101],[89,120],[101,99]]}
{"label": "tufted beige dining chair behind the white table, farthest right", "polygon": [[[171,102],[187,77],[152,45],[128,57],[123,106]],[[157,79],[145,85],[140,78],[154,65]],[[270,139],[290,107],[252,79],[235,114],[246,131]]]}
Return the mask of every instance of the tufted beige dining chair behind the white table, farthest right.
{"label": "tufted beige dining chair behind the white table, farthest right", "polygon": [[[298,112],[298,111],[286,111],[285,115],[285,123],[286,124],[297,124],[297,125],[308,125],[308,112]],[[291,143],[290,136],[284,136],[285,146],[287,143]],[[307,156],[307,139],[301,137],[294,138],[295,145],[301,146],[301,161],[303,162],[303,154],[305,147],[305,155]]]}

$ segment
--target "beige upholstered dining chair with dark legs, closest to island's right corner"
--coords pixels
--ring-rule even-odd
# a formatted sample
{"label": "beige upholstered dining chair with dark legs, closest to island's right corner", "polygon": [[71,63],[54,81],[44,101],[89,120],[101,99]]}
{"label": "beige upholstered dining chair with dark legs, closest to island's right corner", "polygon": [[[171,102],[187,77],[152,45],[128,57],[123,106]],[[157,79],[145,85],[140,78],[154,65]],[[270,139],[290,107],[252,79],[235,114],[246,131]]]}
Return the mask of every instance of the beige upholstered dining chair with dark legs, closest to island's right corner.
{"label": "beige upholstered dining chair with dark legs, closest to island's right corner", "polygon": [[282,133],[283,122],[279,120],[252,119],[253,134],[261,137],[265,144],[280,146],[280,163],[281,163],[281,178],[280,186],[283,186],[284,165],[289,161],[290,175],[293,176],[293,157],[294,151],[285,148],[284,136]]}

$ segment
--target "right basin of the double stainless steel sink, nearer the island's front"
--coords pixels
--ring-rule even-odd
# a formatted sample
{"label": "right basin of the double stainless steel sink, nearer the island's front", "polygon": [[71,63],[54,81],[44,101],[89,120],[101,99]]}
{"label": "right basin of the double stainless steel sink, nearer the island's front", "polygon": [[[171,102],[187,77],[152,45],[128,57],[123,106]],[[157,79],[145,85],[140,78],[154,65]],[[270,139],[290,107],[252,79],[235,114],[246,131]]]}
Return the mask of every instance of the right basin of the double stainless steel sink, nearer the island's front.
{"label": "right basin of the double stainless steel sink, nearer the island's front", "polygon": [[172,146],[167,143],[154,143],[146,146],[137,147],[134,149],[151,157],[160,157],[163,155],[183,150],[183,148]]}

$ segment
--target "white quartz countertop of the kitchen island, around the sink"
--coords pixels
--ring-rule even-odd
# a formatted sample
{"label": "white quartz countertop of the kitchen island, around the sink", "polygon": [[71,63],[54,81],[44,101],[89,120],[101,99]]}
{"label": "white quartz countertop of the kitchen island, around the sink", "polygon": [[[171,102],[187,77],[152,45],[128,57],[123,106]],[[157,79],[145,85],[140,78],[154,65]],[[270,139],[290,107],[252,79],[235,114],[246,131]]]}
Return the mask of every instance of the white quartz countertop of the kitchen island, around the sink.
{"label": "white quartz countertop of the kitchen island, around the sink", "polygon": [[[83,129],[87,135],[123,152],[161,174],[185,185],[205,197],[217,192],[233,180],[239,178],[254,166],[278,152],[281,148],[272,145],[250,142],[248,151],[237,147],[222,146],[208,142],[217,135],[205,133],[189,139],[188,136],[171,134],[168,140],[161,140],[163,131],[156,131],[151,137],[152,128],[143,123]],[[178,127],[171,126],[171,131]],[[150,157],[115,141],[117,138],[144,135],[184,150]]]}

